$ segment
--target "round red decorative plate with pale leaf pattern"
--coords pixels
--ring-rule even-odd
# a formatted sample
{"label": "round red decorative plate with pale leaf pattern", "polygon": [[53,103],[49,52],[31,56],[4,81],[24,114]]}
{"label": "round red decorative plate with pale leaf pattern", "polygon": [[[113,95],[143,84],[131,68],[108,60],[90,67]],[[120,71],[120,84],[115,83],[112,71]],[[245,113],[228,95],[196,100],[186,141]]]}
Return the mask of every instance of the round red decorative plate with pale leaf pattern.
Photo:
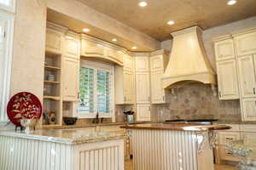
{"label": "round red decorative plate with pale leaf pattern", "polygon": [[20,92],[15,94],[7,105],[9,120],[20,127],[20,119],[40,119],[42,115],[42,105],[34,94]]}

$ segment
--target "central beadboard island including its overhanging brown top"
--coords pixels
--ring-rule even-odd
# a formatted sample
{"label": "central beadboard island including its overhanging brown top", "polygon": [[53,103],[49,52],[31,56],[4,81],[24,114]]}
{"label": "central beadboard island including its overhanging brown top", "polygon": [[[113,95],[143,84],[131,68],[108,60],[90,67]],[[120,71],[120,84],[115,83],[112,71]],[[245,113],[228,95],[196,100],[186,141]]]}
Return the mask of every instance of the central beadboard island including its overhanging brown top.
{"label": "central beadboard island including its overhanging brown top", "polygon": [[132,137],[134,170],[213,170],[214,131],[230,128],[195,123],[122,127]]}

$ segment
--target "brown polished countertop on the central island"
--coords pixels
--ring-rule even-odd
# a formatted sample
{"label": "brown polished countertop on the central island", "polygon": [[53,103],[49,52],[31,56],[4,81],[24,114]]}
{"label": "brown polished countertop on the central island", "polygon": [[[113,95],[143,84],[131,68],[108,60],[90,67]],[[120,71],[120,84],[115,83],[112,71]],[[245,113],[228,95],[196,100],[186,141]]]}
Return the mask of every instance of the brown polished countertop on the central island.
{"label": "brown polished countertop on the central island", "polygon": [[210,130],[224,130],[230,129],[231,127],[226,125],[201,125],[195,123],[148,123],[148,124],[137,124],[137,125],[126,125],[122,126],[126,129],[150,129],[150,130],[175,130],[175,131],[210,131]]}

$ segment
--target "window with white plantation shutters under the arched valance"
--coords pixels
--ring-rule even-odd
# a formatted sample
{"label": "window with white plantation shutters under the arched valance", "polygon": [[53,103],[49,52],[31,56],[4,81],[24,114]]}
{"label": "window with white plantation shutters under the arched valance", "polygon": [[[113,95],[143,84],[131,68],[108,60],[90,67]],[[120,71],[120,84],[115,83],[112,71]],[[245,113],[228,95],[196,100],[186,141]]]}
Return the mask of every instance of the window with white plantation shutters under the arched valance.
{"label": "window with white plantation shutters under the arched valance", "polygon": [[113,65],[81,61],[79,117],[113,116]]}

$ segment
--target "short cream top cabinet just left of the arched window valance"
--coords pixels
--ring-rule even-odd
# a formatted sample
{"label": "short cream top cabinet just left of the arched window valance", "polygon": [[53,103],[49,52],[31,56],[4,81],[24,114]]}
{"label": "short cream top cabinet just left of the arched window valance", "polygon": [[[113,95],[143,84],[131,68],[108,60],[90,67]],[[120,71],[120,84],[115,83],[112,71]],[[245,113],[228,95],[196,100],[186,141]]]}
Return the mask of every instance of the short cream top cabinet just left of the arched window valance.
{"label": "short cream top cabinet just left of the arched window valance", "polygon": [[72,31],[68,31],[64,43],[64,55],[73,59],[80,57],[80,39],[79,35]]}

